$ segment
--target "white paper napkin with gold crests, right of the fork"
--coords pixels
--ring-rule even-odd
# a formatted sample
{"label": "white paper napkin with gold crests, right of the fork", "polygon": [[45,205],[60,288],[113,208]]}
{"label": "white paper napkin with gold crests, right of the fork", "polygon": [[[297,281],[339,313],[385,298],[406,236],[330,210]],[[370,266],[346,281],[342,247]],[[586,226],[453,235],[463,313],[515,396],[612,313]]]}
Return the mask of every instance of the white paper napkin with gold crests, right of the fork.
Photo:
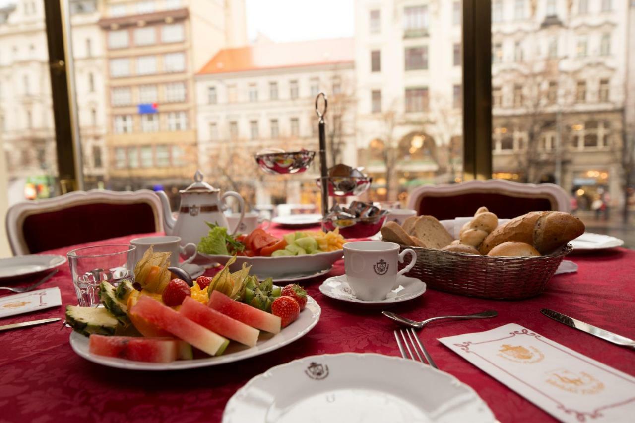
{"label": "white paper napkin with gold crests, right of the fork", "polygon": [[511,323],[439,341],[558,420],[633,421],[634,377],[523,326]]}

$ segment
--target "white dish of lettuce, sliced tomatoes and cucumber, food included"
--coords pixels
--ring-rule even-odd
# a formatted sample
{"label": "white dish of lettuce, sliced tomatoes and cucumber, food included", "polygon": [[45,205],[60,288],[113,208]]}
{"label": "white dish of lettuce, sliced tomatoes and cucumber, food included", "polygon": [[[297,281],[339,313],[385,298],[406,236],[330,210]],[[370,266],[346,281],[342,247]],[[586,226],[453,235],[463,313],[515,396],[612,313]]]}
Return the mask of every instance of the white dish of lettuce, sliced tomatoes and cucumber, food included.
{"label": "white dish of lettuce, sliced tomatoes and cucumber, food included", "polygon": [[244,265],[251,274],[274,282],[303,279],[328,272],[342,258],[346,242],[338,229],[334,231],[296,231],[276,238],[263,229],[250,234],[228,234],[227,229],[208,224],[210,232],[201,238],[198,255],[205,260],[229,264],[232,272]]}

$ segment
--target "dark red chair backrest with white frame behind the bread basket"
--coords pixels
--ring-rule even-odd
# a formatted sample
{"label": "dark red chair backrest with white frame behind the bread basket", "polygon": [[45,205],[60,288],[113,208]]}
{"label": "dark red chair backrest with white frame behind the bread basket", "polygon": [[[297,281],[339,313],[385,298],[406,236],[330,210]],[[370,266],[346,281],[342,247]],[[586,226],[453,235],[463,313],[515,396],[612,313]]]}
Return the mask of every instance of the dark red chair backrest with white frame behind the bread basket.
{"label": "dark red chair backrest with white frame behind the bread basket", "polygon": [[408,208],[438,219],[472,216],[486,206],[500,218],[530,211],[570,211],[566,191],[554,184],[518,184],[508,180],[471,180],[461,184],[424,185],[410,193]]}

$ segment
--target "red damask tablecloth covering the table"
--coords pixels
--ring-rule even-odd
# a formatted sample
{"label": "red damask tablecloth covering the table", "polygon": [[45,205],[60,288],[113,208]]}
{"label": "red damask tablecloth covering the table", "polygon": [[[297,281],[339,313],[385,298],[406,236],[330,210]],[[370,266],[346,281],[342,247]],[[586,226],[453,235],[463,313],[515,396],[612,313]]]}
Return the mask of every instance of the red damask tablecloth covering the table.
{"label": "red damask tablecloth covering the table", "polygon": [[[126,242],[133,236],[102,243]],[[71,248],[50,253],[65,255]],[[518,323],[545,337],[635,375],[635,354],[548,319],[543,307],[635,338],[635,252],[614,250],[571,256],[576,274],[555,276],[542,295],[514,302],[472,299],[429,290],[392,311],[421,320],[495,309],[498,317],[434,323],[420,337],[441,370],[476,389],[501,422],[544,421],[551,416],[436,339]],[[342,274],[338,262],[330,276]],[[394,325],[378,309],[364,309],[321,295],[325,277],[305,281],[322,307],[318,325],[277,351],[229,365],[180,372],[131,372],[90,363],[69,345],[70,330],[57,323],[0,333],[0,422],[220,421],[225,403],[251,377],[272,366],[313,354],[379,352],[398,356]],[[64,304],[77,304],[67,264],[46,286],[59,286]],[[64,317],[62,307],[0,319],[1,324]]]}

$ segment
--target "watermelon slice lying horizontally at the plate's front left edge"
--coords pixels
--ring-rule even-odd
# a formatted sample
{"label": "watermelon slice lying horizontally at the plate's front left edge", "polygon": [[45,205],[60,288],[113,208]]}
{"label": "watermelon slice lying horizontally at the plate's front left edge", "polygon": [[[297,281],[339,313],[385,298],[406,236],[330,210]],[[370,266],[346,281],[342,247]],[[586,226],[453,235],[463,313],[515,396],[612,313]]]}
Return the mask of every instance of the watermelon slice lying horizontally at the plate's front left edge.
{"label": "watermelon slice lying horizontally at the plate's front left edge", "polygon": [[88,351],[99,356],[170,363],[178,357],[179,343],[185,344],[173,338],[115,337],[93,333],[88,339]]}

